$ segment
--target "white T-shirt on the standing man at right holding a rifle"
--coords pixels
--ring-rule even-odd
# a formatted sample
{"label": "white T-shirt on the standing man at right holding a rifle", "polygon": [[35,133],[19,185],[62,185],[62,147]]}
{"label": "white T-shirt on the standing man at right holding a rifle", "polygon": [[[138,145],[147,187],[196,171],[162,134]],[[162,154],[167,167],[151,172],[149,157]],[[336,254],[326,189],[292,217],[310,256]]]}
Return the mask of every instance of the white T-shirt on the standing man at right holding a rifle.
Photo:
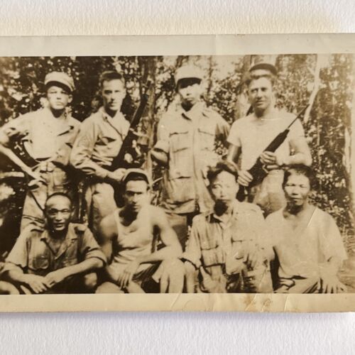
{"label": "white T-shirt on the standing man at right holding a rifle", "polygon": [[[235,121],[227,141],[241,147],[241,169],[250,169],[271,141],[278,136],[278,133],[284,131],[293,119],[295,119],[294,114],[275,109],[262,119],[255,114],[249,114]],[[290,127],[287,138],[275,153],[280,158],[288,157],[293,140],[304,136],[305,131],[300,120],[297,119]]]}

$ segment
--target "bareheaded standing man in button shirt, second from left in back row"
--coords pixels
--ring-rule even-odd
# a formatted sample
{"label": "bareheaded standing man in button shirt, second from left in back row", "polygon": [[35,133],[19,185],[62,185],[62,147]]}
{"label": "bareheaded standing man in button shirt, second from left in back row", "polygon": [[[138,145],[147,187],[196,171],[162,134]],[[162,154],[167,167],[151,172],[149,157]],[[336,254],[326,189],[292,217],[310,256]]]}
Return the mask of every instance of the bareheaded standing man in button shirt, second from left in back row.
{"label": "bareheaded standing man in button shirt, second from left in back row", "polygon": [[103,106],[82,123],[70,158],[72,166],[87,178],[84,195],[95,236],[102,219],[116,209],[111,183],[120,182],[124,170],[111,172],[109,167],[129,131],[129,121],[121,113],[126,97],[124,77],[118,72],[104,72],[100,90]]}

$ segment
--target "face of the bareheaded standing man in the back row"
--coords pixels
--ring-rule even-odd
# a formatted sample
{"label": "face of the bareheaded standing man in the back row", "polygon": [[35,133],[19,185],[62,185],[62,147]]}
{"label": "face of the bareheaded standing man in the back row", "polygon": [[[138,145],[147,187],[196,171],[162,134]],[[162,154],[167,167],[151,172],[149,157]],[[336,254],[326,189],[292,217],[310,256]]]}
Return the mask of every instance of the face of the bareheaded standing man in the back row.
{"label": "face of the bareheaded standing man in the back row", "polygon": [[121,110],[122,102],[126,96],[124,82],[119,79],[104,80],[102,82],[102,99],[104,109],[108,114],[115,114]]}

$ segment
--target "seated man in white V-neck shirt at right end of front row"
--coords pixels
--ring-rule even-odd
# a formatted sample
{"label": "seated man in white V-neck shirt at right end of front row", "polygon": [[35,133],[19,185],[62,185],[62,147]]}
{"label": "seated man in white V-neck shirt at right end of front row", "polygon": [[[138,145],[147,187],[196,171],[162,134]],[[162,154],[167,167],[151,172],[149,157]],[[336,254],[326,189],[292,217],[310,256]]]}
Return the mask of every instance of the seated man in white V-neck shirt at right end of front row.
{"label": "seated man in white V-neck shirt at right end of front row", "polygon": [[305,165],[285,172],[285,208],[266,222],[280,263],[277,293],[340,293],[346,287],[337,278],[346,251],[334,219],[308,201],[315,175]]}

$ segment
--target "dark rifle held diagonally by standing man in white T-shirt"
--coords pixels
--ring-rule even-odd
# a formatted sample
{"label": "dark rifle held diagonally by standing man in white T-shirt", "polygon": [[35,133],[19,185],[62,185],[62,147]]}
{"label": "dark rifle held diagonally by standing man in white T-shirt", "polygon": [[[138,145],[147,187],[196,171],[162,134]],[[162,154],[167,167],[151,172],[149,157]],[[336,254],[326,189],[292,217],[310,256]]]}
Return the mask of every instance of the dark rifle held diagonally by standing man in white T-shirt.
{"label": "dark rifle held diagonally by standing man in white T-shirt", "polygon": [[[288,133],[290,132],[291,126],[295,123],[295,121],[297,121],[297,119],[300,118],[300,116],[302,116],[302,114],[305,112],[307,107],[308,107],[308,105],[306,107],[304,107],[302,109],[302,111],[300,111],[299,114],[297,114],[297,117],[287,126],[285,131],[278,133],[278,135],[275,138],[273,138],[273,141],[263,150],[263,152],[268,151],[268,152],[275,153],[275,151],[278,149],[278,147],[280,147],[280,145],[287,138]],[[253,180],[250,182],[248,187],[241,186],[241,185],[239,186],[239,191],[236,194],[236,198],[239,201],[244,201],[246,195],[248,195],[246,192],[246,188],[250,188],[255,185],[258,185],[260,182],[263,181],[263,179],[266,177],[266,175],[268,175],[268,171],[266,170],[263,163],[261,163],[260,156],[256,160],[256,163],[254,163],[254,165],[248,170],[248,173],[251,174],[251,176],[253,177]]]}

